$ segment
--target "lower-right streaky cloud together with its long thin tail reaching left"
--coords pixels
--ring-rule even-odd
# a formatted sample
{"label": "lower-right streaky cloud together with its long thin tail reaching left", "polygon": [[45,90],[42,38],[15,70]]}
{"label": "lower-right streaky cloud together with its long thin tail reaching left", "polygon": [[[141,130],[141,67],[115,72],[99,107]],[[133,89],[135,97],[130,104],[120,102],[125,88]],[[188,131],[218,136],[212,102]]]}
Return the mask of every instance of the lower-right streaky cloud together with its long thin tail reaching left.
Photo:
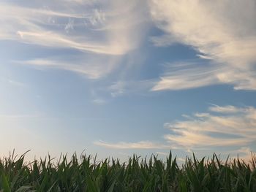
{"label": "lower-right streaky cloud together with its long thin tail reaching left", "polygon": [[208,112],[197,112],[184,117],[187,119],[165,123],[164,126],[170,130],[170,134],[165,134],[164,140],[159,143],[149,141],[111,143],[100,140],[94,142],[94,145],[113,149],[175,149],[189,153],[192,150],[200,150],[205,151],[205,155],[210,155],[222,147],[230,147],[232,148],[229,150],[230,155],[235,157],[239,153],[244,158],[248,157],[250,146],[255,145],[256,109],[254,107],[212,104]]}

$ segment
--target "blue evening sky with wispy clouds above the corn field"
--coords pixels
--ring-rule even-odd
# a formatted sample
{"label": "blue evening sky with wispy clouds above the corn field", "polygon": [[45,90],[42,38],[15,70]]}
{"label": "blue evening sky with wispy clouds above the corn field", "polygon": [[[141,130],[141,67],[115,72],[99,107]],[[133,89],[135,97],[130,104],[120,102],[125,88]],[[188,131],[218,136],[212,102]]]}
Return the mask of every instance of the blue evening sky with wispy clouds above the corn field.
{"label": "blue evening sky with wispy clouds above the corn field", "polygon": [[1,156],[256,149],[255,0],[1,0]]}

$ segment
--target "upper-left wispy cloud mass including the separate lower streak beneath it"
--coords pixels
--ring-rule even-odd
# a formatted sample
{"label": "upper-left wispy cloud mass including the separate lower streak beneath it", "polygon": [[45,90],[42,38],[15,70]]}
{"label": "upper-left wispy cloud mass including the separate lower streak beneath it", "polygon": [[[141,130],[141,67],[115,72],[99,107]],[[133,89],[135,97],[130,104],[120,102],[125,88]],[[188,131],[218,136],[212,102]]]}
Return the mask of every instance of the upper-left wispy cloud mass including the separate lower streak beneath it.
{"label": "upper-left wispy cloud mass including the separate lower streak beneath it", "polygon": [[27,6],[14,1],[1,2],[0,39],[45,49],[72,49],[80,57],[69,62],[61,61],[63,55],[54,59],[31,58],[20,61],[23,64],[40,64],[97,79],[116,69],[121,65],[119,58],[140,46],[146,17],[138,7],[143,2],[61,1],[59,7],[51,1],[45,4],[48,6],[39,1]]}

